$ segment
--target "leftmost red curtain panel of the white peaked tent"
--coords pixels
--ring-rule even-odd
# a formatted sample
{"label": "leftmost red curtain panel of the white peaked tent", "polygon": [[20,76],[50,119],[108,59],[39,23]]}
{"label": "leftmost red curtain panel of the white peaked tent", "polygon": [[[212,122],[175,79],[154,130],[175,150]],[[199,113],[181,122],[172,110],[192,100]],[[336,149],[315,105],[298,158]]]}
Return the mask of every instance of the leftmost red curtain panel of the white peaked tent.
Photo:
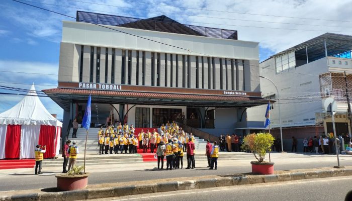
{"label": "leftmost red curtain panel of the white peaked tent", "polygon": [[20,144],[21,125],[8,125],[5,140],[5,158],[20,158]]}

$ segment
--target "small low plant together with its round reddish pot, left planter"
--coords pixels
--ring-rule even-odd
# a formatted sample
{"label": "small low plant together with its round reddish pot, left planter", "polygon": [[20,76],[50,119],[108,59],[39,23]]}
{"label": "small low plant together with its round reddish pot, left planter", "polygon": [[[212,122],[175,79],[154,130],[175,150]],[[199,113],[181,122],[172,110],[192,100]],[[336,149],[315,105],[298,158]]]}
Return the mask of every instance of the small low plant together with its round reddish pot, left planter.
{"label": "small low plant together with its round reddish pot, left planter", "polygon": [[88,184],[89,173],[83,172],[84,166],[73,166],[67,173],[56,174],[59,190],[79,190]]}

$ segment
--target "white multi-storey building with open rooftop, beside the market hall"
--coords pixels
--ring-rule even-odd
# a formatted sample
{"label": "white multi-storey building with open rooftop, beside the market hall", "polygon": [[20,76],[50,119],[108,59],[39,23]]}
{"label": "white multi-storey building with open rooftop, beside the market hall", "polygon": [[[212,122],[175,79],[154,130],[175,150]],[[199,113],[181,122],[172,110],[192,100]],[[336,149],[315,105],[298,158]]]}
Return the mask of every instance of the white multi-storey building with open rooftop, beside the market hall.
{"label": "white multi-storey building with open rooftop, beside the market hall", "polygon": [[[259,64],[260,75],[271,79],[278,86],[281,126],[288,150],[291,150],[292,136],[302,139],[320,136],[322,132],[332,132],[331,118],[323,114],[326,113],[323,107],[326,97],[333,96],[338,105],[338,113],[335,116],[336,133],[339,135],[351,132],[346,115],[343,74],[344,71],[347,74],[348,89],[351,91],[351,50],[352,36],[326,33],[279,52]],[[260,86],[263,97],[279,97],[275,86],[269,80],[261,78]],[[265,107],[259,108],[249,111],[260,111],[264,114]],[[251,118],[256,117],[249,116],[248,120]],[[271,127],[272,133],[280,137],[278,102],[271,111]],[[299,146],[303,146],[300,140]]]}

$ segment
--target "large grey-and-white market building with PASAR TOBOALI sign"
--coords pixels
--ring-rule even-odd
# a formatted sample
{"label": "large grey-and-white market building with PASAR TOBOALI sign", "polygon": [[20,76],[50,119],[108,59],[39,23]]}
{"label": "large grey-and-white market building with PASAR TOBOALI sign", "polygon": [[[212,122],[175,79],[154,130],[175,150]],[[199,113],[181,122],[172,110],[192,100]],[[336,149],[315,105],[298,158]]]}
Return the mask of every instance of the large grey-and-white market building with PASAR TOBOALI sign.
{"label": "large grey-and-white market building with PASAR TOBOALI sign", "polygon": [[250,127],[243,111],[266,101],[258,65],[258,43],[234,30],[77,11],[63,22],[58,87],[44,92],[64,109],[65,128],[92,94],[96,125],[112,115],[136,128],[177,120],[219,135]]}

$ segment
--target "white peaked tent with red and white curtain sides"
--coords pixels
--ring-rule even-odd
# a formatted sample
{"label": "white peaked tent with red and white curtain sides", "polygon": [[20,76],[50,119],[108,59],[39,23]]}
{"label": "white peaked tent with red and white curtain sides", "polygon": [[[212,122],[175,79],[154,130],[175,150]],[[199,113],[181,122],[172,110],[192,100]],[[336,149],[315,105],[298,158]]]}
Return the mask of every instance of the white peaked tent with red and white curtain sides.
{"label": "white peaked tent with red and white curtain sides", "polygon": [[50,145],[44,157],[59,154],[61,128],[62,123],[46,110],[33,84],[21,102],[0,114],[0,159],[34,158],[38,143]]}

